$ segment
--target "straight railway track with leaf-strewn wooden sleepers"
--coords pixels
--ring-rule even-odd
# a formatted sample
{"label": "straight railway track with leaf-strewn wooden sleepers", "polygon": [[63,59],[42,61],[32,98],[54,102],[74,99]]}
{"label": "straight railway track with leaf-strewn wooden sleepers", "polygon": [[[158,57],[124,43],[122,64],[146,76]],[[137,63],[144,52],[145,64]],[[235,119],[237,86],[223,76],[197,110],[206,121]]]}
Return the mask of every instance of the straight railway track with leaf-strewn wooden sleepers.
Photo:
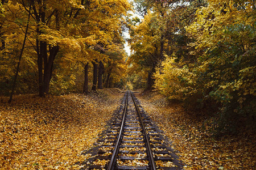
{"label": "straight railway track with leaf-strewn wooden sleepers", "polygon": [[88,169],[181,169],[137,103],[134,94],[127,91]]}

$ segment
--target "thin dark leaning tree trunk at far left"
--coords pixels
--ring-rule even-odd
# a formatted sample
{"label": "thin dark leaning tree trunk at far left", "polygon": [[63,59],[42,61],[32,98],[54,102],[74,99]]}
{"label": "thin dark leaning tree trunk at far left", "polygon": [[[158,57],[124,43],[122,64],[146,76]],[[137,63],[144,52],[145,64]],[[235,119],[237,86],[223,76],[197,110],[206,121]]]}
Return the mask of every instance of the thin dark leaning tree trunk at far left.
{"label": "thin dark leaning tree trunk at far left", "polygon": [[15,90],[15,86],[16,86],[16,82],[17,82],[17,78],[18,78],[18,73],[19,73],[20,61],[22,58],[22,53],[25,48],[25,43],[26,43],[26,39],[27,39],[28,25],[30,22],[30,12],[31,12],[31,5],[30,5],[30,10],[28,12],[28,19],[27,19],[27,25],[26,25],[26,31],[25,31],[25,35],[24,35],[23,44],[22,44],[22,49],[20,50],[19,61],[18,61],[17,67],[16,67],[16,73],[14,76],[13,88],[11,89],[11,95],[10,95],[10,99],[9,99],[8,103],[11,103],[11,100],[13,100],[13,94],[14,94],[14,90]]}

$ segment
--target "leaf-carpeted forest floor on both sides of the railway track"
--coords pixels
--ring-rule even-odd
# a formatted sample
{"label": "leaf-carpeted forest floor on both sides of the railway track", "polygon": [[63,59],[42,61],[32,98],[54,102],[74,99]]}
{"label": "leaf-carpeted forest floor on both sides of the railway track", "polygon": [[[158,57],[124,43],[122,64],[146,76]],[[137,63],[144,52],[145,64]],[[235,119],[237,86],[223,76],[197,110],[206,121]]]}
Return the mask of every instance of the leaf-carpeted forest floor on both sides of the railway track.
{"label": "leaf-carpeted forest floor on both sides of the railway track", "polygon": [[[173,143],[185,169],[254,169],[255,134],[213,138],[205,118],[158,92],[135,94]],[[123,94],[0,96],[0,169],[79,169]],[[202,128],[204,127],[205,128]]]}

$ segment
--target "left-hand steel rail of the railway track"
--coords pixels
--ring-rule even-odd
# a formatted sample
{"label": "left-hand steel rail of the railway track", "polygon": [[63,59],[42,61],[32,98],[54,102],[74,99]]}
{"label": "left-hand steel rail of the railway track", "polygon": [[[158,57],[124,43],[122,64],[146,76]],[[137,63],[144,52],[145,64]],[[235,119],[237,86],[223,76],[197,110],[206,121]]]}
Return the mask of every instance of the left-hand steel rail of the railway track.
{"label": "left-hand steel rail of the railway track", "polygon": [[129,92],[127,91],[126,94],[127,95],[126,95],[126,99],[125,99],[125,108],[123,109],[122,124],[121,124],[121,128],[120,128],[120,131],[118,134],[117,142],[115,142],[115,148],[113,150],[113,154],[112,154],[112,157],[111,157],[109,165],[108,165],[108,170],[114,169],[114,163],[115,163],[115,160],[117,159],[117,154],[118,154],[118,150],[119,150],[119,146],[120,146],[120,142],[121,142],[121,136],[123,133],[123,127],[125,126],[125,117],[126,117],[126,112],[127,112]]}

